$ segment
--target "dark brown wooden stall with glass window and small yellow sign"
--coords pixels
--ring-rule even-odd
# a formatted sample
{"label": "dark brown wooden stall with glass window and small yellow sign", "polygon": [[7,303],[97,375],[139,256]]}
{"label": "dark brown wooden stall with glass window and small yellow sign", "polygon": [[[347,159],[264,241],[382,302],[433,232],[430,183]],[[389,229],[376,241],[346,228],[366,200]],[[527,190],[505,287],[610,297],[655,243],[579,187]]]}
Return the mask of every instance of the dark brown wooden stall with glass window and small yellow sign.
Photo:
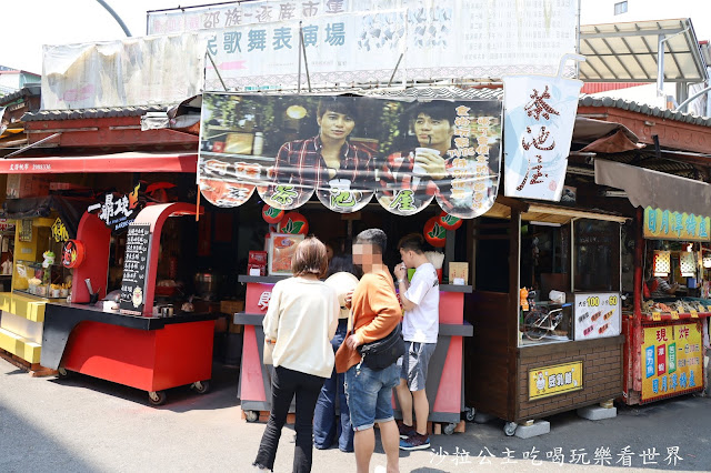
{"label": "dark brown wooden stall with glass window and small yellow sign", "polygon": [[474,335],[465,359],[475,363],[465,363],[467,405],[505,420],[508,435],[622,392],[619,255],[627,220],[499,197],[471,223],[474,281],[464,313]]}

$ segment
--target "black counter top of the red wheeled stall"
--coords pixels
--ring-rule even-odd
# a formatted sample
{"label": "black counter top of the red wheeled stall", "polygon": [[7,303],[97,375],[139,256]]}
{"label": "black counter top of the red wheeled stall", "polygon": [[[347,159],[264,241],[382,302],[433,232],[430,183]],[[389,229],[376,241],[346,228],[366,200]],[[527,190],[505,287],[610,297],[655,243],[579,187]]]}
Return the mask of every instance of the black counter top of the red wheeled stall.
{"label": "black counter top of the red wheeled stall", "polygon": [[52,306],[52,311],[63,313],[82,311],[84,320],[93,322],[102,322],[111,325],[120,325],[129,329],[138,330],[160,330],[166,325],[176,323],[201,322],[206,320],[217,320],[221,316],[219,313],[186,313],[171,318],[148,318],[140,315],[127,315],[113,311],[104,311],[102,308],[90,304],[71,304],[66,302],[48,302],[47,305]]}

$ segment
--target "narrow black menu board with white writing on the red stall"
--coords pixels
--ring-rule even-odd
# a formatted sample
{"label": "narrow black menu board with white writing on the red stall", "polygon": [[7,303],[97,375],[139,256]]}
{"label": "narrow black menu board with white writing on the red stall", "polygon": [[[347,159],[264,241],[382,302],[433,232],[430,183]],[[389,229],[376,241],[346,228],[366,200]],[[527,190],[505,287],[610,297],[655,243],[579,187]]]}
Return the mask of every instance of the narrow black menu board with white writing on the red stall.
{"label": "narrow black menu board with white writing on the red stall", "polygon": [[146,302],[146,276],[151,245],[150,223],[131,223],[126,240],[120,312],[141,315]]}

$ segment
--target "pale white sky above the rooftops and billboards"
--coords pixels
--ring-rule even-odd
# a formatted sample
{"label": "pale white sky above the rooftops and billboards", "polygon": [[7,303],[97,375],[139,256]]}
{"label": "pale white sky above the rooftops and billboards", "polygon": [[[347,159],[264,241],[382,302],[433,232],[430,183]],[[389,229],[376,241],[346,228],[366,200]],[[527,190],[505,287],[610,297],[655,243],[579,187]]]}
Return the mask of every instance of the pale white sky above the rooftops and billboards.
{"label": "pale white sky above the rooftops and billboards", "polygon": [[[134,37],[146,34],[146,11],[177,8],[182,4],[211,3],[210,0],[107,0],[122,18]],[[224,0],[222,0],[224,1]],[[600,11],[601,4],[613,0],[582,0],[582,9]],[[619,1],[619,0],[614,0]],[[218,0],[212,1],[217,3]],[[653,12],[654,19],[690,16],[699,40],[711,39],[711,7],[708,0],[630,0],[630,12],[622,21],[638,18],[634,10],[643,14]],[[711,2],[710,2],[711,3]],[[650,9],[658,4],[657,9]],[[605,6],[607,7],[607,6]],[[604,10],[610,10],[604,8]],[[587,10],[592,12],[591,10]],[[0,64],[29,72],[42,72],[42,44],[70,44],[111,41],[124,38],[119,23],[96,0],[3,0],[0,7],[3,44],[0,46]],[[599,19],[600,16],[584,18]],[[610,21],[614,21],[610,17]],[[597,21],[595,21],[597,22]],[[583,21],[584,23],[584,21]]]}

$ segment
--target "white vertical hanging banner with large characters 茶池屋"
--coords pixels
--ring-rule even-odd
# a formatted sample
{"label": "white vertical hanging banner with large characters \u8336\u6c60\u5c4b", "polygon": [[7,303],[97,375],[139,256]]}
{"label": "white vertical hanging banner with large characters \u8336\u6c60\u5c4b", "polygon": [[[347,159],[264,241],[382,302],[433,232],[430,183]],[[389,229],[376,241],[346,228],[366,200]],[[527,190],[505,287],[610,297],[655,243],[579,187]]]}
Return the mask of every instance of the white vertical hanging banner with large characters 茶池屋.
{"label": "white vertical hanging banner with large characters \u8336\u6c60\u5c4b", "polygon": [[544,76],[503,79],[507,197],[560,201],[582,82]]}

